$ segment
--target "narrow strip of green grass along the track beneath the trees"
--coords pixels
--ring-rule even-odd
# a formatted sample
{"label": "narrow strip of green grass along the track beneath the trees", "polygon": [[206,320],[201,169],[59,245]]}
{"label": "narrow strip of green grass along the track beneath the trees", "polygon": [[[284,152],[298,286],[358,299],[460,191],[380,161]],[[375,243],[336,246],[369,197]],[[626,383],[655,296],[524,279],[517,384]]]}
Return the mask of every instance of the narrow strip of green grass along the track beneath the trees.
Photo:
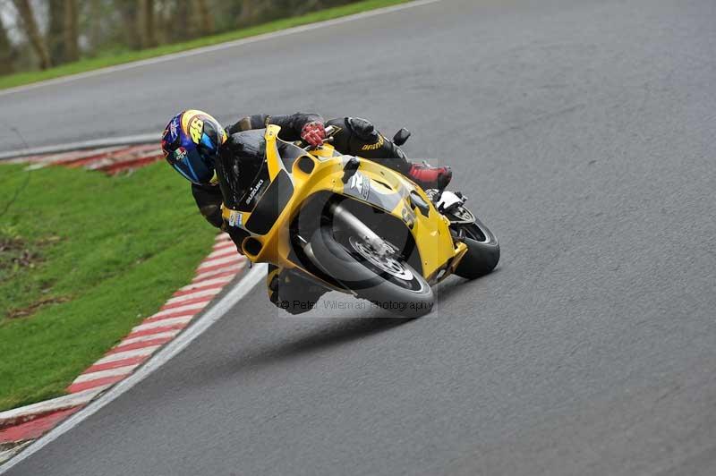
{"label": "narrow strip of green grass along the track beneath the trees", "polygon": [[271,31],[285,30],[286,28],[314,23],[316,21],[331,20],[333,18],[360,13],[392,4],[402,4],[406,1],[407,0],[364,0],[354,4],[328,8],[326,10],[321,10],[320,12],[307,13],[297,17],[270,21],[268,23],[263,23],[261,25],[243,30],[234,30],[210,37],[197,38],[184,43],[164,45],[141,51],[126,51],[113,55],[100,55],[96,58],[83,59],[71,64],[63,64],[62,66],[50,68],[45,71],[18,72],[7,76],[0,76],[0,89],[13,88],[15,86],[21,86],[31,82],[51,80],[53,78],[77,74],[79,72],[98,70],[107,66],[114,66],[115,64],[131,63],[132,61],[168,55],[192,48],[208,47],[209,45],[216,45],[217,43],[224,43],[234,39],[253,37],[263,33],[269,33]]}

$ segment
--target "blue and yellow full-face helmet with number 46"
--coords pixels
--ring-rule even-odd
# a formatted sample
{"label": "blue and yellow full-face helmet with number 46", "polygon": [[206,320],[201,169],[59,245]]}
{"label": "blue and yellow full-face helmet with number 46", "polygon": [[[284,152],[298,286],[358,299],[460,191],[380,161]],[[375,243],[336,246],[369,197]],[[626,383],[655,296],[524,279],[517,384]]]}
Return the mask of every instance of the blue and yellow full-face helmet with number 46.
{"label": "blue and yellow full-face helmet with number 46", "polygon": [[211,115],[189,109],[175,115],[162,134],[166,162],[192,183],[216,183],[214,163],[226,131]]}

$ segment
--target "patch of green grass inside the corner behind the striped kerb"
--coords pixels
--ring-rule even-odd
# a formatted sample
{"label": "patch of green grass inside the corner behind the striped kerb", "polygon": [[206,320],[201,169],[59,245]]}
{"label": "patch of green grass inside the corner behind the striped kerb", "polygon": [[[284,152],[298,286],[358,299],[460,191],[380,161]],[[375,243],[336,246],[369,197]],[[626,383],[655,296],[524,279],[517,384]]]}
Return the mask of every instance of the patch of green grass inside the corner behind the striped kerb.
{"label": "patch of green grass inside the corner behind the striped kerb", "polygon": [[216,235],[161,163],[116,177],[0,165],[0,213],[16,191],[0,216],[0,410],[63,395],[191,280]]}

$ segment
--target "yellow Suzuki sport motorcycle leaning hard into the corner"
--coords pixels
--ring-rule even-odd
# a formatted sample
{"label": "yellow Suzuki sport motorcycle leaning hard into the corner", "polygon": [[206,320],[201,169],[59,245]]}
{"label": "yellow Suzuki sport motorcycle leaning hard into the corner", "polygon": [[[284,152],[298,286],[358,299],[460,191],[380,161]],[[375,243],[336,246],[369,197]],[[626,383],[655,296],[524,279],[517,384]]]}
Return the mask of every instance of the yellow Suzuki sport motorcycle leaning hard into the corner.
{"label": "yellow Suzuki sport motorcycle leaning hard into the corner", "polygon": [[[263,132],[266,160],[249,191],[238,191],[230,161],[217,163],[222,215],[248,234],[241,248],[252,263],[405,317],[430,312],[430,286],[447,276],[474,279],[497,266],[499,243],[465,208],[465,195],[423,191],[386,166],[340,154],[330,127],[317,148],[280,140],[279,131]],[[393,141],[409,136],[401,129]]]}

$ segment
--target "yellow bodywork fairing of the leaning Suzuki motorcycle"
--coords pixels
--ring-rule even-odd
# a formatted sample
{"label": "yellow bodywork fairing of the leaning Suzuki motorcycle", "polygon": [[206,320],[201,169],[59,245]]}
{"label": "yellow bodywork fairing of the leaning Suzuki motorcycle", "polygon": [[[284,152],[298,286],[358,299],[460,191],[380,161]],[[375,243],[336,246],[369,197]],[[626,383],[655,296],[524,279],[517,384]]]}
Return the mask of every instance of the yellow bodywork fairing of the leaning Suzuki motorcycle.
{"label": "yellow bodywork fairing of the leaning Suzuki motorcycle", "polygon": [[[291,221],[303,203],[316,193],[328,191],[359,200],[402,221],[413,235],[422,265],[419,271],[429,283],[439,281],[456,268],[467,248],[464,243],[453,241],[449,221],[433,207],[420,187],[386,166],[340,155],[328,144],[305,151],[278,139],[279,131],[277,125],[268,125],[264,135],[270,184],[256,205],[251,211],[226,206],[222,210],[229,226],[240,227],[250,234],[243,240],[242,249],[252,262],[300,268],[320,279],[290,258],[289,233]],[[295,157],[288,160],[281,157],[279,146]],[[352,166],[357,161],[357,170],[344,183],[345,168],[352,160]]]}

